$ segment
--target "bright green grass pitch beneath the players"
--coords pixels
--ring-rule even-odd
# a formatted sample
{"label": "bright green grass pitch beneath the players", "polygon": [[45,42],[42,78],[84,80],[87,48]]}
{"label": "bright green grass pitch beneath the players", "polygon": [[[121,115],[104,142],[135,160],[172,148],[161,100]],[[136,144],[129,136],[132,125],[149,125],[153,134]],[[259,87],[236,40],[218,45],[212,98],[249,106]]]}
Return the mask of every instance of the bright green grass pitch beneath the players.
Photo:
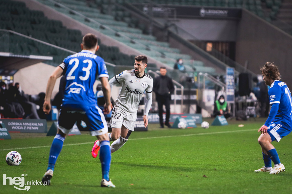
{"label": "bright green grass pitch beneath the players", "polygon": [[[228,120],[227,126],[211,126],[213,119],[203,120],[210,123],[209,129],[198,125],[161,130],[158,124],[150,124],[149,131],[132,133],[124,147],[112,154],[110,178],[116,188],[100,187],[100,161],[91,156],[96,138],[85,133],[66,137],[51,186],[31,185],[28,192],[263,193],[271,188],[276,193],[291,193],[291,135],[273,143],[286,171],[256,173],[253,171],[263,166],[257,130],[265,120]],[[19,135],[11,133],[12,140],[0,141],[0,172],[12,178],[28,174],[25,182],[41,181],[53,136]],[[21,154],[22,162],[8,166],[6,154],[14,150]],[[1,174],[1,193],[27,192],[16,190],[9,180],[3,185]]]}

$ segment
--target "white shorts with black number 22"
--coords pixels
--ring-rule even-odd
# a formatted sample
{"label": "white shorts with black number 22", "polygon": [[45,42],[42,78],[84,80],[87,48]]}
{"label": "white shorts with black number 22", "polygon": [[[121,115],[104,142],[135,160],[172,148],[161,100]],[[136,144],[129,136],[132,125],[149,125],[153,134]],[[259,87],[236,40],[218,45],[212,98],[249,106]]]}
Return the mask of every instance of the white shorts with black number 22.
{"label": "white shorts with black number 22", "polygon": [[116,107],[112,110],[112,117],[110,119],[109,127],[121,128],[124,125],[128,130],[133,131],[137,114],[129,114]]}

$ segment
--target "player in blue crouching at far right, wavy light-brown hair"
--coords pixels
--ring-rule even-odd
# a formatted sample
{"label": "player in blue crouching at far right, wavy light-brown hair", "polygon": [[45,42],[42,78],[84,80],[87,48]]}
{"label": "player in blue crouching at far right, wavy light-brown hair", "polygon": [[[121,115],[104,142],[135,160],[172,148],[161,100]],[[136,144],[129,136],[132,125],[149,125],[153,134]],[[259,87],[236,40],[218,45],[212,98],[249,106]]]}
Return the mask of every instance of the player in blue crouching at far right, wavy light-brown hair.
{"label": "player in blue crouching at far right, wavy light-brown hair", "polygon": [[[286,83],[280,81],[277,66],[267,62],[260,70],[263,73],[263,80],[270,86],[268,93],[271,110],[265,124],[258,130],[261,132],[258,142],[262,147],[265,166],[255,172],[278,174],[285,171],[285,167],[280,162],[278,153],[271,142],[275,140],[279,142],[292,130],[292,98]],[[272,161],[274,168],[272,168]]]}

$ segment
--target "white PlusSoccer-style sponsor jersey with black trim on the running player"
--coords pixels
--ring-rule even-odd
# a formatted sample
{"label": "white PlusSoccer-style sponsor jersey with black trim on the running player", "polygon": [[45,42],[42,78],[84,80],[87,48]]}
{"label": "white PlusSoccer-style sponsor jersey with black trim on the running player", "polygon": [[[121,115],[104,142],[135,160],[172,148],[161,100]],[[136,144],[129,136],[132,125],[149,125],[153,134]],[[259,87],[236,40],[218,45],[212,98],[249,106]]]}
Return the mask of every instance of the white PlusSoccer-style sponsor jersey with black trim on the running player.
{"label": "white PlusSoccer-style sponsor jersey with black trim on the running player", "polygon": [[118,83],[122,84],[122,89],[115,102],[115,107],[128,112],[136,113],[141,97],[146,91],[152,92],[153,79],[147,73],[142,77],[135,75],[135,70],[124,70],[119,75],[115,76]]}

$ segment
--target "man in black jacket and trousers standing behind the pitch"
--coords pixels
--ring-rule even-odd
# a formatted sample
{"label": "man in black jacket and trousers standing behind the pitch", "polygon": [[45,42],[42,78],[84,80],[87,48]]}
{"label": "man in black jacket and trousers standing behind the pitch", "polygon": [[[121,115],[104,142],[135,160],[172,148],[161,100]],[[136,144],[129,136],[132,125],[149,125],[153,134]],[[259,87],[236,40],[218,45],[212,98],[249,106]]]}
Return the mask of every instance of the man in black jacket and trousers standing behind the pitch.
{"label": "man in black jacket and trousers standing behind the pitch", "polygon": [[170,99],[171,94],[174,91],[174,86],[172,79],[166,75],[166,67],[160,67],[160,74],[161,75],[153,82],[153,91],[156,94],[156,100],[158,103],[160,128],[164,128],[162,116],[163,105],[165,105],[166,109],[165,125],[168,126],[168,128],[171,128],[171,125],[169,124]]}

